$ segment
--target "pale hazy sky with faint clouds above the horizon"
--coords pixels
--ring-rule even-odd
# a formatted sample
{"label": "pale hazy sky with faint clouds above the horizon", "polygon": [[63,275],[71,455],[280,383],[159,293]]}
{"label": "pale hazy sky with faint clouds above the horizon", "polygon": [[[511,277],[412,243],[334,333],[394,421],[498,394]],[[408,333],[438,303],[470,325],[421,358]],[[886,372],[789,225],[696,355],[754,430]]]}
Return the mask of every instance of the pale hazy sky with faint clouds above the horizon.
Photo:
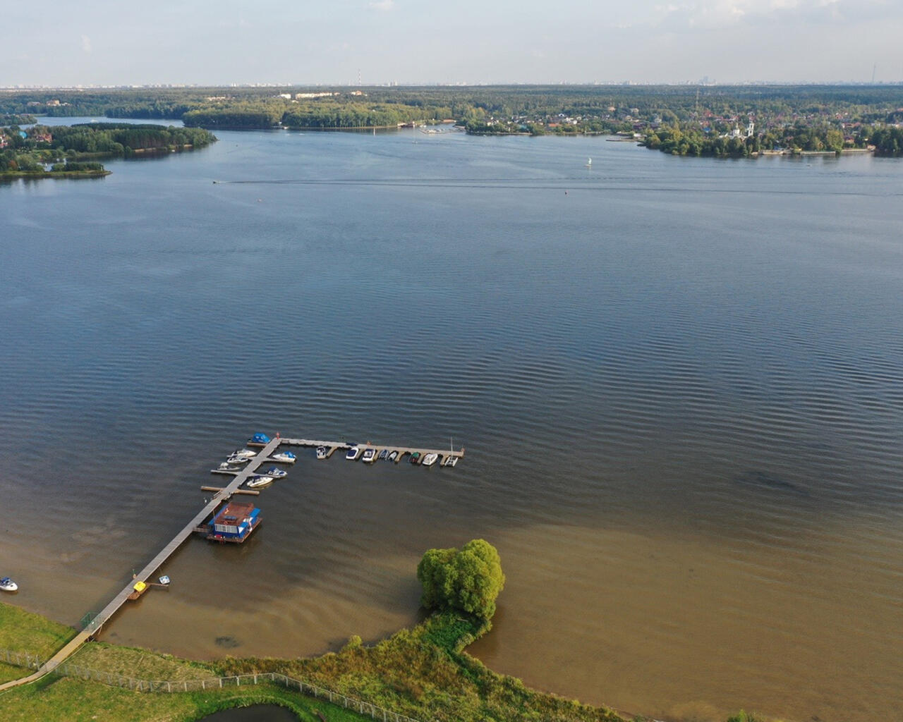
{"label": "pale hazy sky with faint clouds above the horizon", "polygon": [[903,80],[903,0],[44,0],[0,86]]}

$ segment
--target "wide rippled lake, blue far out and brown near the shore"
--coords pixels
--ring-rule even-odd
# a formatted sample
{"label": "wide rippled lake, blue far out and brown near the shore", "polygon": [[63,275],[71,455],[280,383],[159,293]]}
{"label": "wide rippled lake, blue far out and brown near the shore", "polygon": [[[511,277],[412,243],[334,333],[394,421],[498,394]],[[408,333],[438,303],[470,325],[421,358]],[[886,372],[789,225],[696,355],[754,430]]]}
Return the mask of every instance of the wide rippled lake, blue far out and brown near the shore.
{"label": "wide rippled lake, blue far out and brown near the shore", "polygon": [[249,542],[190,542],[105,637],[376,640],[417,619],[424,549],[482,536],[508,582],[471,651],[536,687],[673,719],[903,708],[903,164],[220,137],[0,186],[16,604],[103,606],[256,430],[453,438],[454,469],[310,452]]}

